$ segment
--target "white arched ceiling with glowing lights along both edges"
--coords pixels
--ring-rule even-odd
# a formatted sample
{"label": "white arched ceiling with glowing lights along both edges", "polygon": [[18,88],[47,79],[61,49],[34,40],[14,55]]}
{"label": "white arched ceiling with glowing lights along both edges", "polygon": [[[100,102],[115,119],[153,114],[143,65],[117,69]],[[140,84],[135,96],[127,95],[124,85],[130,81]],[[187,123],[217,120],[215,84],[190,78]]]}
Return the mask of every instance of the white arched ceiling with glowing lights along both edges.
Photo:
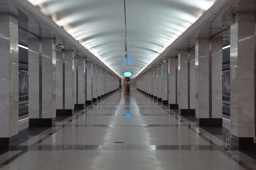
{"label": "white arched ceiling with glowing lights along both edges", "polygon": [[[125,0],[136,76],[216,0]],[[124,0],[29,0],[117,74],[126,71]]]}

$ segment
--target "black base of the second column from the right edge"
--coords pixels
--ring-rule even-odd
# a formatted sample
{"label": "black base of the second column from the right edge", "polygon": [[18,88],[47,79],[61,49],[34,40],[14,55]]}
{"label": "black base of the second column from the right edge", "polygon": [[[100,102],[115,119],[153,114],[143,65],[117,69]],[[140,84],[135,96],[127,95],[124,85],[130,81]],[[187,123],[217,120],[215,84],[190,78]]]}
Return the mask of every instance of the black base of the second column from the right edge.
{"label": "black base of the second column from the right edge", "polygon": [[222,118],[196,118],[196,125],[200,127],[222,127]]}

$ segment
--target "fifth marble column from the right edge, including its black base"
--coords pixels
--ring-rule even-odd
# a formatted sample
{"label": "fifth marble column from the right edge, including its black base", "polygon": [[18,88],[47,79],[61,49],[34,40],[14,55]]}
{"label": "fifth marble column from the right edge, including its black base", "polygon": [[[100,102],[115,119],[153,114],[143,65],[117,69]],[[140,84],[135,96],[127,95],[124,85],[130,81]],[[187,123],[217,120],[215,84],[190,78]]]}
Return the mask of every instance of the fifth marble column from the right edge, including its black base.
{"label": "fifth marble column from the right edge, including its black base", "polygon": [[168,64],[162,64],[162,104],[168,105]]}

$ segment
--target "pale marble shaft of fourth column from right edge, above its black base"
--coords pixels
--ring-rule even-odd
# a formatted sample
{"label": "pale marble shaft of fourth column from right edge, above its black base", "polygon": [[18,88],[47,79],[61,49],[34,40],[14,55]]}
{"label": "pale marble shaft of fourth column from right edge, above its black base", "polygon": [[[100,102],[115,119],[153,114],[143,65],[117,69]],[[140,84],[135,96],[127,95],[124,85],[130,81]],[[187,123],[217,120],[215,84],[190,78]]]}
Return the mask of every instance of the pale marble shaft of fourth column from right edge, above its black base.
{"label": "pale marble shaft of fourth column from right edge, above its black base", "polygon": [[168,102],[169,104],[177,104],[176,102],[176,58],[175,57],[169,57],[169,96],[168,96]]}

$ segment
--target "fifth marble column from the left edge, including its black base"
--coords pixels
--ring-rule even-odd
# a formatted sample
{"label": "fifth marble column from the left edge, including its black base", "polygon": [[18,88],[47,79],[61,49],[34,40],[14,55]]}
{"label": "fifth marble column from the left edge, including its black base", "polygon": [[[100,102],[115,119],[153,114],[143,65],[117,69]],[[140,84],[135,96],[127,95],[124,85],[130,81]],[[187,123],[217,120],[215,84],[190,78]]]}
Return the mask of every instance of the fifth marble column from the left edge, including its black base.
{"label": "fifth marble column from the left edge, including its black base", "polygon": [[86,102],[85,105],[91,105],[93,102],[93,63],[86,63]]}

